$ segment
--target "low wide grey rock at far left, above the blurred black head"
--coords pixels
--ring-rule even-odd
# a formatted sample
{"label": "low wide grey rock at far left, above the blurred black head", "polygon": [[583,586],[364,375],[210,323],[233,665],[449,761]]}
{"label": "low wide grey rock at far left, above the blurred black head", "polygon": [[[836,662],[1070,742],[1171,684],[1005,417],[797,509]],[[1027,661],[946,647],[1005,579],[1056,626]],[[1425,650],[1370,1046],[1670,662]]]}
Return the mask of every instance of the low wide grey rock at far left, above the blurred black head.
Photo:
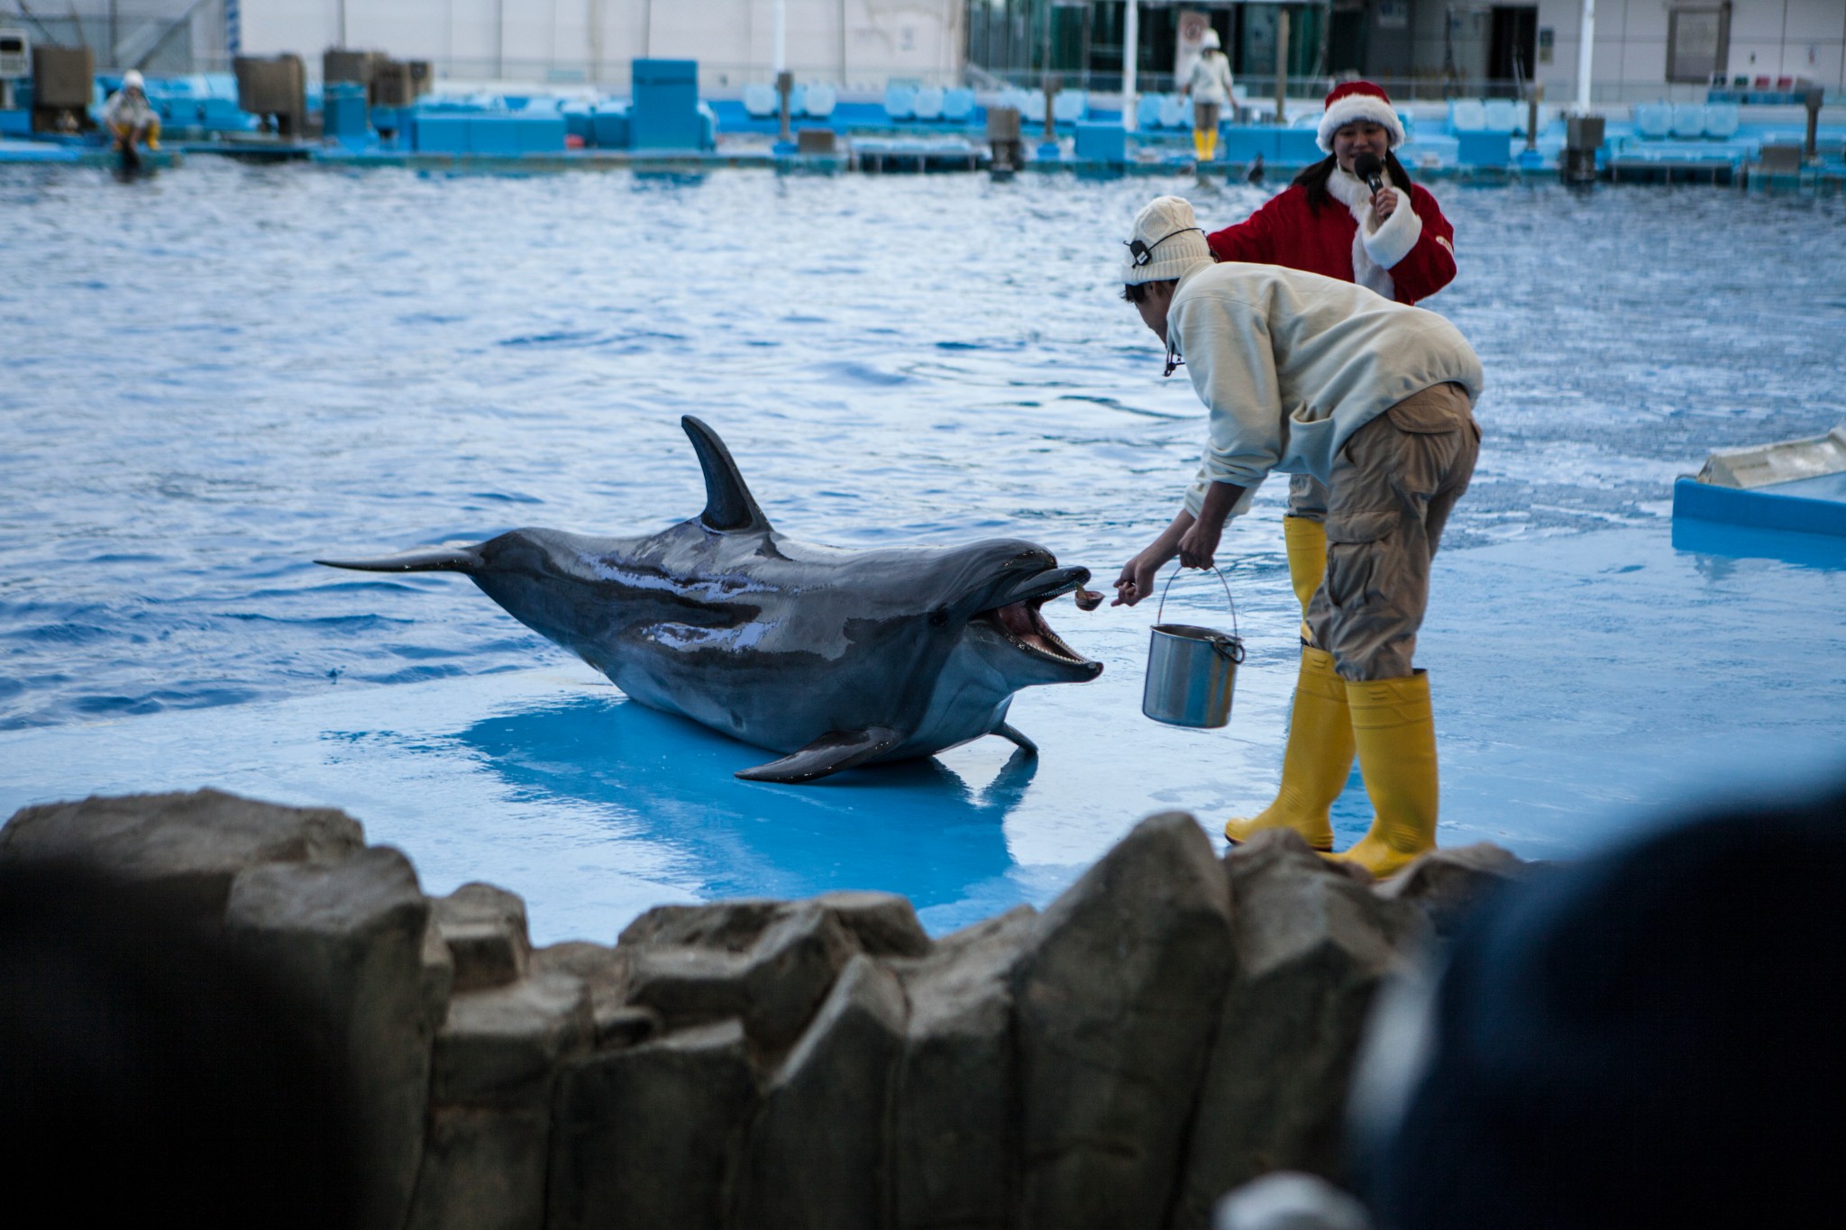
{"label": "low wide grey rock at far left, above the blurred black head", "polygon": [[332,863],[364,846],[364,830],[345,811],[284,808],[216,789],[50,802],[22,808],[0,828],[0,861],[79,861],[212,920],[247,867]]}

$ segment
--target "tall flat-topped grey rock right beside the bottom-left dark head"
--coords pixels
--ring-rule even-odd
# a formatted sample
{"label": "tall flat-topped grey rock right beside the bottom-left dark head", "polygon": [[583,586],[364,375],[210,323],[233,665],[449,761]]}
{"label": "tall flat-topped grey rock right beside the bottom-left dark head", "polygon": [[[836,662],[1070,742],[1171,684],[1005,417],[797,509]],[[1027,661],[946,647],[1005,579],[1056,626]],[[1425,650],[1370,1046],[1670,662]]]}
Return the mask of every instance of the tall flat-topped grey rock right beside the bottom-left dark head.
{"label": "tall flat-topped grey rock right beside the bottom-left dark head", "polygon": [[410,859],[373,846],[338,863],[270,863],[231,883],[225,931],[321,1014],[329,1060],[362,1112],[366,1230],[397,1230],[423,1154],[432,987],[430,905]]}

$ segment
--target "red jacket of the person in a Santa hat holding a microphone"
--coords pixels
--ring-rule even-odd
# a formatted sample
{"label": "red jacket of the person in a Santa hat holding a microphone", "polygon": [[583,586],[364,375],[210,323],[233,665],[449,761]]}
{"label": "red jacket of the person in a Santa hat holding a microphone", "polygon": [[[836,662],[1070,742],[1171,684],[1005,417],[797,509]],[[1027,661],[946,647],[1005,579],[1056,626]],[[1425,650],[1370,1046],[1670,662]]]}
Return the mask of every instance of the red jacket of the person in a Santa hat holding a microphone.
{"label": "red jacket of the person in a Santa hat holding a microphone", "polygon": [[[1379,262],[1390,273],[1397,302],[1427,299],[1455,280],[1455,227],[1442,216],[1436,197],[1418,184],[1410,184],[1408,192],[1410,208],[1416,210],[1421,232],[1414,236],[1414,242],[1405,240],[1408,242],[1407,253],[1383,253],[1396,256],[1394,262]],[[1403,207],[1399,205],[1399,208]],[[1218,260],[1283,266],[1342,282],[1357,282],[1359,278],[1353,275],[1353,236],[1357,231],[1359,221],[1338,199],[1329,199],[1318,210],[1311,210],[1307,188],[1290,184],[1244,221],[1207,236],[1207,242],[1211,254]]]}

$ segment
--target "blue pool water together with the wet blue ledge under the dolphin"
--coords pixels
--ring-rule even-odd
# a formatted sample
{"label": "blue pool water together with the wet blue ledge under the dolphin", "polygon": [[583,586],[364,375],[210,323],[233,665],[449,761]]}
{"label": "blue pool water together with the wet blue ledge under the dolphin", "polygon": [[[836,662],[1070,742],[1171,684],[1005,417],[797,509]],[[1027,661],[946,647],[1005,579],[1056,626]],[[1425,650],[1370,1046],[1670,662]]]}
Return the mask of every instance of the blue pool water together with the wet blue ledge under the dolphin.
{"label": "blue pool water together with the wet blue ledge under the dolphin", "polygon": [[[1846,559],[1676,544],[1711,448],[1846,417],[1842,201],[1432,184],[1429,301],[1488,373],[1438,562],[1444,841],[1564,856],[1660,806],[1837,765]],[[1028,537],[1100,583],[1172,514],[1204,415],[1117,299],[1157,192],[1019,177],[441,177],[198,159],[0,173],[0,813],[223,786],[347,806],[432,891],[541,939],[657,900],[910,894],[936,929],[1043,902],[1139,815],[1274,791],[1292,686],[1283,483],[1226,537],[1250,642],[1220,732],[1139,716],[1145,609],[1052,609],[1108,664],[999,739],[814,787],[626,703],[456,577],[316,568],[515,526],[694,514],[677,419],[785,533]],[[1224,625],[1217,585],[1174,609]],[[1172,609],[1169,610],[1169,616]],[[1357,782],[1342,841],[1364,828]]]}

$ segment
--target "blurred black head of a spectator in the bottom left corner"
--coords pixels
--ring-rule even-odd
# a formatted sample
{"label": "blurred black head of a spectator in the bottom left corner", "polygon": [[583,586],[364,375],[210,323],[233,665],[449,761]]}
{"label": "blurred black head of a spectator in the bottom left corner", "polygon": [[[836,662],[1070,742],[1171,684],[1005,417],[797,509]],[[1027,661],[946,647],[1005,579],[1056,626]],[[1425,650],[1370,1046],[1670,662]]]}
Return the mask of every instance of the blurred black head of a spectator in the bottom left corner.
{"label": "blurred black head of a spectator in the bottom left corner", "polygon": [[0,1156],[72,1226],[351,1226],[343,1077],[312,1018],[148,894],[0,867]]}

